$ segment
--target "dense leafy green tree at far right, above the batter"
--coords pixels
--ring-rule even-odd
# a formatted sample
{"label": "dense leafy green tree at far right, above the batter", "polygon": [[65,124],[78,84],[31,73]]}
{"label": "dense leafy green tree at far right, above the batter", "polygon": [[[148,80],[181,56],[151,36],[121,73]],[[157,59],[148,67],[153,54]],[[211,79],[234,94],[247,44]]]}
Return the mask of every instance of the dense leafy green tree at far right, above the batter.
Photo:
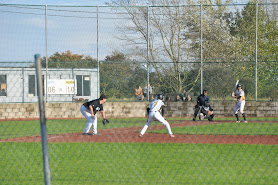
{"label": "dense leafy green tree at far right, above the batter", "polygon": [[[237,44],[238,55],[247,60],[235,67],[239,76],[255,79],[255,52],[256,52],[256,1],[250,1],[244,9],[237,13],[232,24],[231,34],[239,39]],[[271,18],[264,10],[264,6],[258,5],[258,95],[270,97],[278,84],[278,29],[277,20]],[[254,92],[254,86],[251,89]],[[276,93],[276,92],[274,92]]]}

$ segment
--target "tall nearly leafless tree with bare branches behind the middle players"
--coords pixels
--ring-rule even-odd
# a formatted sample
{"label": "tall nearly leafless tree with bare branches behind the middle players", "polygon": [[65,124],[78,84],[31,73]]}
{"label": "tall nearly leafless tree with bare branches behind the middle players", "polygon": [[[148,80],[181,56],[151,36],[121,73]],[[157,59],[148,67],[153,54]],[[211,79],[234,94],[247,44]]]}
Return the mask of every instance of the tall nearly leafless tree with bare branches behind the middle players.
{"label": "tall nearly leafless tree with bare branches behind the middle players", "polygon": [[[181,91],[184,82],[182,78],[186,69],[186,54],[183,48],[186,43],[182,40],[182,17],[183,11],[181,7],[129,7],[132,5],[128,0],[118,0],[115,2],[118,5],[125,6],[125,12],[130,16],[133,26],[121,27],[122,40],[128,43],[133,43],[133,48],[130,48],[130,53],[135,57],[142,57],[145,61],[149,60],[152,67],[160,79],[158,86],[169,85],[165,81],[165,74],[170,74],[175,83],[173,83],[172,91]],[[146,1],[151,5],[169,6],[181,5],[180,1]],[[149,12],[148,12],[149,11]],[[149,26],[149,30],[147,27]],[[128,33],[132,33],[130,36]],[[134,34],[138,35],[134,38]],[[149,58],[147,58],[146,45],[142,47],[137,43],[148,43]],[[135,47],[134,47],[135,45]],[[162,87],[161,87],[162,88]]]}

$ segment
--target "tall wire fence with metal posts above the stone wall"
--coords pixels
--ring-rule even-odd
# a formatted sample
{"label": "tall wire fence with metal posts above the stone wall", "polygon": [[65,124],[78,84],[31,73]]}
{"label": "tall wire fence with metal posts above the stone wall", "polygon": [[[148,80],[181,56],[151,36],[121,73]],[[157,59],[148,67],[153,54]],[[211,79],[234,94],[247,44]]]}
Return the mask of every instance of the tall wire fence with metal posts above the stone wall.
{"label": "tall wire fence with metal posts above the stone wall", "polygon": [[[1,4],[5,39],[0,64],[34,67],[32,56],[40,53],[46,74],[55,68],[96,69],[97,79],[91,78],[97,89],[89,89],[89,96],[79,93],[77,98],[83,99],[106,93],[110,100],[134,100],[138,85],[144,89],[150,84],[154,94],[186,90],[196,97],[207,89],[212,99],[230,100],[239,80],[247,100],[273,101],[278,94],[277,7]],[[0,83],[6,97],[0,98],[15,102],[21,81],[5,68]],[[79,78],[46,76],[44,80]],[[46,89],[45,95],[47,102],[56,101],[47,98],[52,95]]]}

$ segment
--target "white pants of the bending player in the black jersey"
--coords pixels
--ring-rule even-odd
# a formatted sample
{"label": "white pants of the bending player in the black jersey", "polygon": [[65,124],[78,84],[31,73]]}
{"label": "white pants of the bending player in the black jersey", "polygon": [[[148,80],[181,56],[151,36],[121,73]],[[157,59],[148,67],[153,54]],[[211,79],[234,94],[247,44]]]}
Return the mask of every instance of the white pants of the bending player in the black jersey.
{"label": "white pants of the bending player in the black jersey", "polygon": [[96,115],[92,115],[91,111],[89,111],[84,105],[80,108],[81,113],[87,119],[87,125],[84,130],[84,133],[89,133],[90,128],[93,125],[93,134],[97,134],[97,117]]}

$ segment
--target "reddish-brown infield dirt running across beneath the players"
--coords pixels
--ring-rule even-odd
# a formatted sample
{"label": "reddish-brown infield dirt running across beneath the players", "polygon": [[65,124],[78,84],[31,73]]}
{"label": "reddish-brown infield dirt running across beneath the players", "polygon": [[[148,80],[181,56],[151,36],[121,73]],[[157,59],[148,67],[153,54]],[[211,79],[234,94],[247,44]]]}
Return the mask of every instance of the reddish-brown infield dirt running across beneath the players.
{"label": "reddish-brown infield dirt running across beneath the players", "polygon": [[[182,121],[173,123],[171,127],[184,127],[205,124],[220,124],[224,121]],[[225,121],[227,122],[227,121]],[[260,121],[262,123],[262,121]],[[263,123],[274,123],[264,121]],[[275,122],[276,123],[276,122]],[[278,135],[202,135],[175,134],[170,138],[168,134],[146,133],[139,137],[140,127],[113,128],[99,130],[99,135],[82,135],[82,133],[67,133],[48,135],[48,142],[119,142],[119,143],[202,143],[202,144],[278,144]],[[164,125],[150,126],[148,130],[165,128]],[[0,142],[41,142],[41,136],[2,139]]]}

